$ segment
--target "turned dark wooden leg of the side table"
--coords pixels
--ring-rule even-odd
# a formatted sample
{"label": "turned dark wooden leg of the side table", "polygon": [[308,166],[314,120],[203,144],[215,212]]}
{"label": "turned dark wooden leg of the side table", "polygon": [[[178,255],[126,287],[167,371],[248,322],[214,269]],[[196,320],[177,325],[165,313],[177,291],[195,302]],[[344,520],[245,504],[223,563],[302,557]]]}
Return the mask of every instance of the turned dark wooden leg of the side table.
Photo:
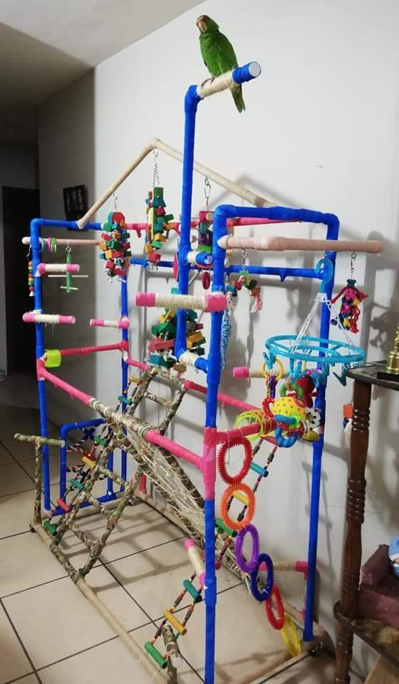
{"label": "turned dark wooden leg of the side table", "polygon": [[[346,501],[346,537],[343,547],[341,579],[341,613],[353,619],[358,613],[358,591],[361,571],[361,526],[366,496],[366,457],[371,385],[355,380],[353,386],[353,425],[351,463]],[[343,624],[338,626],[335,684],[349,684],[348,668],[352,658],[353,633]]]}

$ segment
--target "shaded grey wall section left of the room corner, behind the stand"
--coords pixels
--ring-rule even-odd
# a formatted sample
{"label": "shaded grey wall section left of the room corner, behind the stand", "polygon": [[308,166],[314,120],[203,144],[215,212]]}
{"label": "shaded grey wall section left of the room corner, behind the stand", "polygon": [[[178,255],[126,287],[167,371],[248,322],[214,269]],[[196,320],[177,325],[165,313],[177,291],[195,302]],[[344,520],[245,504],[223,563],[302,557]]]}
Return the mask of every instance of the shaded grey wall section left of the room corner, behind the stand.
{"label": "shaded grey wall section left of the room corner, behind the stand", "polygon": [[[41,107],[41,123],[39,130],[40,154],[43,160],[51,159],[53,151],[56,159],[66,157],[70,147],[76,150],[76,163],[69,166],[61,164],[56,170],[52,165],[41,162],[41,214],[46,219],[65,219],[63,208],[63,187],[86,185],[88,206],[93,204],[95,188],[95,109],[94,109],[94,72],[76,82],[73,98],[84,103],[76,112],[70,104],[70,88],[58,93],[54,100],[48,100]],[[65,98],[65,101],[63,101]],[[69,100],[67,99],[69,98]],[[66,112],[68,115],[66,116]],[[47,115],[48,113],[48,115]],[[69,158],[69,157],[68,157]],[[43,229],[43,236],[63,239],[88,238],[98,239],[98,232],[78,233],[67,229]],[[71,246],[72,262],[80,264],[79,275],[88,278],[72,280],[73,290],[66,294],[63,278],[43,278],[44,310],[51,314],[72,314],[76,316],[73,326],[46,326],[46,348],[71,348],[91,346],[96,343],[96,328],[89,325],[90,318],[95,317],[96,297],[96,264],[99,260],[98,248],[95,246]],[[55,254],[46,250],[43,259],[61,263],[66,260],[66,247],[58,246]],[[115,354],[118,352],[109,352]],[[108,352],[105,352],[107,355]],[[63,358],[61,368],[56,370],[64,380],[88,394],[95,395],[95,354],[87,356],[71,356]],[[105,359],[104,359],[105,361]],[[48,415],[51,420],[61,425],[93,416],[93,412],[78,400],[71,400],[63,391],[46,383]]]}

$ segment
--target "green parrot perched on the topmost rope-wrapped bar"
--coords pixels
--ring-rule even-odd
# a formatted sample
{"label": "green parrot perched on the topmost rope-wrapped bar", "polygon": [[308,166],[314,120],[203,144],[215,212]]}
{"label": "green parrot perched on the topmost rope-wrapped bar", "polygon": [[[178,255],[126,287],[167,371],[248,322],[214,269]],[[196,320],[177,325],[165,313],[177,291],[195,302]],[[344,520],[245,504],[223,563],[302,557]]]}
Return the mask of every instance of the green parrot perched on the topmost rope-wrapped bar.
{"label": "green parrot perched on the topmost rope-wrapped bar", "polygon": [[[210,75],[220,76],[221,73],[232,71],[238,66],[236,53],[232,43],[220,33],[216,21],[202,14],[197,19],[199,28],[199,46],[201,48],[202,59]],[[232,86],[232,96],[239,112],[245,110],[244,99],[242,98],[242,86]]]}

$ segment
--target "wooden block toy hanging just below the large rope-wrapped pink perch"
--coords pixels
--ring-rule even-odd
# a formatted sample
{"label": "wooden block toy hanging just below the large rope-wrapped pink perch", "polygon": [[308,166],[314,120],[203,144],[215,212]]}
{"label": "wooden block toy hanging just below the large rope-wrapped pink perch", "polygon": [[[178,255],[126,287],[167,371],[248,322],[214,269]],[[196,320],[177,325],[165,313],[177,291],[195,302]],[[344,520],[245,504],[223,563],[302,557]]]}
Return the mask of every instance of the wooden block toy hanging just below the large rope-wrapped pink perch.
{"label": "wooden block toy hanging just below the large rope-wrapped pink perch", "polygon": [[[179,294],[179,289],[173,287],[171,293]],[[197,323],[197,317],[196,311],[187,309],[187,348],[196,353],[197,356],[204,356],[204,344],[206,343],[202,333],[204,325]],[[177,358],[173,356],[176,327],[177,314],[175,309],[165,309],[165,313],[161,314],[159,322],[151,327],[154,338],[148,346],[148,362],[154,366],[175,368],[176,371],[182,372],[185,370],[185,366],[179,364]]]}

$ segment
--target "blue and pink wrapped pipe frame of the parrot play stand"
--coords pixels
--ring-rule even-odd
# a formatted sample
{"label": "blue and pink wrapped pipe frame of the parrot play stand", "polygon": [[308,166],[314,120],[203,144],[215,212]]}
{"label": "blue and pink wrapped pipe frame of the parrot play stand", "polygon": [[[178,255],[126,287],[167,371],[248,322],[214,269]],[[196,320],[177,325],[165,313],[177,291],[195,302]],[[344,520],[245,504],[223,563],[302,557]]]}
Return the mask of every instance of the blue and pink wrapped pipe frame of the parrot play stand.
{"label": "blue and pink wrapped pipe frame of the parrot play stand", "polygon": [[[70,423],[63,425],[61,427],[61,478],[60,478],[60,497],[66,489],[66,437],[68,432],[75,428],[82,430],[90,430],[92,427],[101,425],[104,421],[108,421],[113,427],[115,427],[116,435],[119,435],[118,439],[111,440],[110,445],[108,445],[108,450],[105,450],[105,455],[102,460],[103,472],[108,475],[107,479],[107,491],[106,493],[97,499],[97,507],[102,507],[103,504],[110,501],[118,501],[121,497],[128,498],[126,496],[126,479],[127,479],[127,456],[128,452],[140,453],[140,448],[143,444],[155,445],[161,450],[167,450],[174,457],[180,458],[190,462],[195,467],[199,468],[202,472],[203,479],[203,504],[204,504],[204,546],[206,549],[205,554],[205,590],[204,590],[204,602],[206,611],[206,649],[205,649],[205,681],[207,684],[212,684],[214,682],[214,642],[215,642],[215,610],[216,610],[216,586],[217,579],[215,574],[215,480],[216,480],[216,449],[217,444],[225,442],[229,438],[234,437],[234,433],[237,430],[227,430],[224,432],[219,432],[217,430],[217,404],[222,403],[226,405],[232,405],[239,410],[253,409],[251,405],[241,402],[235,398],[229,397],[219,393],[219,382],[221,376],[221,328],[222,328],[222,316],[223,311],[226,306],[226,299],[224,296],[224,278],[226,274],[238,273],[242,266],[230,265],[225,266],[225,249],[227,247],[242,247],[242,242],[235,242],[234,238],[227,237],[228,231],[227,227],[230,224],[265,224],[265,223],[279,223],[279,222],[311,222],[314,224],[323,224],[326,226],[326,241],[317,240],[305,240],[301,247],[298,245],[289,246],[291,243],[289,239],[284,239],[288,242],[279,244],[276,249],[311,249],[311,250],[325,250],[324,259],[328,260],[331,264],[330,269],[310,269],[310,268],[289,268],[280,266],[247,266],[247,270],[251,274],[260,274],[266,276],[279,276],[281,281],[284,281],[287,277],[294,278],[307,278],[316,279],[321,282],[321,289],[326,294],[328,299],[331,299],[331,294],[333,290],[333,279],[335,271],[335,261],[337,251],[353,251],[353,249],[358,249],[361,251],[363,249],[367,252],[378,252],[380,251],[380,244],[377,243],[366,243],[366,242],[354,242],[351,241],[348,244],[343,244],[338,241],[338,229],[339,222],[338,218],[334,214],[326,214],[322,212],[316,212],[308,209],[291,209],[286,207],[276,207],[272,205],[268,200],[259,197],[259,195],[254,195],[254,193],[249,190],[242,188],[236,183],[229,181],[213,172],[207,167],[199,165],[194,160],[194,143],[195,143],[195,118],[197,113],[198,104],[207,96],[229,88],[232,83],[244,83],[246,81],[251,81],[253,78],[259,76],[260,68],[257,63],[249,63],[244,67],[239,67],[234,71],[224,74],[212,81],[207,81],[202,86],[190,86],[187,90],[185,96],[185,143],[184,143],[184,154],[181,155],[180,152],[174,150],[169,145],[165,145],[160,140],[154,139],[146,145],[142,152],[135,157],[135,160],[129,165],[129,167],[123,172],[120,177],[118,177],[115,182],[108,188],[108,190],[93,204],[93,207],[89,209],[86,215],[79,219],[77,222],[68,221],[58,221],[52,219],[33,219],[31,222],[31,251],[32,251],[32,261],[33,261],[33,274],[34,274],[34,311],[29,314],[32,322],[35,323],[36,328],[36,365],[37,365],[37,378],[38,378],[38,398],[39,398],[39,409],[40,409],[40,419],[41,419],[41,442],[39,443],[38,438],[36,438],[36,474],[38,479],[36,480],[36,485],[38,484],[38,502],[36,501],[36,514],[33,521],[33,527],[40,534],[41,538],[45,540],[50,546],[51,550],[54,551],[54,544],[51,541],[51,537],[48,537],[45,529],[41,525],[41,502],[40,502],[40,492],[43,490],[43,508],[48,511],[51,508],[50,499],[50,473],[49,473],[49,458],[48,458],[48,429],[47,429],[47,409],[46,409],[46,380],[52,383],[54,386],[64,390],[66,393],[71,395],[71,398],[76,398],[83,402],[86,406],[93,408],[98,413],[100,413],[101,418],[83,421],[81,423]],[[44,336],[43,336],[43,323],[71,323],[71,320],[61,320],[62,318],[73,318],[62,317],[56,314],[43,314],[43,304],[42,304],[42,278],[46,273],[46,266],[41,265],[41,229],[45,227],[51,227],[53,229],[57,228],[68,228],[80,232],[87,231],[100,231],[102,229],[101,224],[98,222],[90,222],[100,207],[107,201],[109,197],[115,192],[115,190],[121,185],[121,183],[130,175],[133,170],[140,165],[140,162],[147,156],[147,154],[154,149],[162,150],[168,155],[174,157],[183,163],[183,180],[182,180],[182,214],[180,223],[180,243],[178,251],[178,264],[179,264],[179,294],[176,295],[176,299],[173,296],[156,296],[152,293],[139,293],[136,298],[136,304],[138,306],[167,306],[165,302],[169,303],[170,306],[174,304],[177,309],[177,333],[175,338],[175,356],[178,359],[184,358],[186,364],[195,366],[199,371],[204,373],[206,378],[206,386],[199,385],[197,383],[192,383],[190,380],[186,380],[183,383],[184,391],[199,391],[206,395],[206,420],[204,427],[203,443],[202,443],[202,456],[199,456],[185,447],[172,442],[165,435],[163,435],[163,430],[153,429],[150,425],[140,423],[137,419],[131,417],[129,413],[125,412],[125,406],[122,405],[120,410],[112,410],[105,406],[103,403],[98,401],[96,398],[84,393],[73,385],[66,383],[64,380],[48,371],[45,365],[46,361],[46,350],[44,347]],[[188,294],[189,291],[189,276],[190,271],[198,268],[196,264],[192,264],[188,259],[188,254],[192,252],[192,244],[190,242],[190,227],[192,224],[192,179],[193,170],[196,170],[202,175],[206,175],[214,182],[217,182],[222,187],[227,188],[229,191],[234,192],[236,195],[246,200],[247,202],[254,204],[255,207],[237,207],[229,204],[219,205],[213,214],[213,246],[212,246],[212,258],[213,258],[213,277],[212,277],[212,294],[205,295],[202,297],[194,297]],[[131,224],[130,224],[131,225]],[[132,225],[134,228],[134,225]],[[136,225],[135,229],[139,232],[139,227]],[[233,243],[231,242],[233,240]],[[251,242],[252,241],[252,242]],[[73,240],[67,241],[73,243]],[[98,241],[93,240],[77,240],[77,243],[81,244],[98,244]],[[295,241],[294,241],[295,242]],[[301,241],[299,241],[301,242]],[[312,244],[314,243],[314,244]],[[273,249],[273,243],[262,243],[263,247],[257,242],[256,239],[246,239],[246,248],[257,248],[257,249]],[[142,258],[132,257],[130,259],[131,264],[147,266],[147,261]],[[161,260],[158,266],[165,268],[172,268],[173,262],[167,260]],[[120,279],[120,321],[128,320],[128,277]],[[207,358],[197,357],[190,354],[187,350],[187,327],[186,327],[186,311],[187,309],[202,309],[202,311],[207,311],[211,316],[211,333],[209,341],[209,353]],[[47,318],[46,318],[47,317]],[[49,317],[49,318],[48,318]],[[330,326],[330,309],[325,304],[321,306],[321,321],[320,321],[320,337],[323,340],[329,339],[329,326]],[[120,351],[122,355],[121,361],[121,395],[126,396],[128,388],[128,369],[130,366],[139,368],[143,373],[150,373],[145,363],[140,361],[135,361],[130,358],[129,351],[129,333],[127,326],[115,326],[121,328],[121,337],[118,343],[103,345],[103,346],[92,346],[83,348],[70,348],[61,350],[61,357],[63,356],[78,356],[86,355],[89,353],[98,353],[102,351]],[[320,410],[323,417],[326,410],[326,386],[322,383],[317,388],[317,395],[315,400],[315,405],[318,410]],[[249,425],[244,428],[244,433],[247,435],[253,434],[258,429],[258,426]],[[242,433],[242,429],[239,430]],[[140,437],[140,438],[139,438]],[[117,445],[121,447],[121,469],[120,477],[118,478],[112,476],[113,469],[113,453],[112,447]],[[133,445],[133,448],[132,448]],[[39,449],[40,447],[40,449]],[[313,448],[313,460],[311,469],[311,503],[310,503],[310,515],[309,515],[309,550],[308,550],[308,560],[307,560],[307,586],[306,586],[306,603],[304,611],[304,644],[306,648],[314,648],[316,643],[322,638],[323,632],[314,624],[314,596],[315,596],[315,582],[316,582],[316,556],[317,556],[317,537],[318,537],[318,509],[319,509],[319,495],[320,495],[320,482],[321,482],[321,462],[323,455],[323,435],[321,438],[314,443]],[[41,482],[41,474],[39,471],[42,470],[43,481]],[[141,471],[142,472],[142,471]],[[94,477],[94,476],[93,476]],[[134,482],[133,482],[134,480]],[[139,480],[138,477],[133,478],[133,480],[128,485],[130,487],[130,497],[135,495],[140,495],[138,492]],[[133,483],[133,484],[132,484]],[[115,490],[115,484],[118,487]],[[129,493],[128,492],[128,493]],[[147,494],[141,492],[144,499],[148,499]],[[81,506],[93,505],[93,497],[86,501],[81,501]],[[56,514],[65,514],[65,509],[57,509]],[[73,519],[75,514],[68,512],[66,518],[70,519],[71,529],[73,528]],[[172,516],[172,519],[173,518]],[[180,519],[178,523],[181,525],[182,520]],[[58,554],[59,556],[59,554]],[[57,556],[57,557],[58,557]],[[61,558],[58,559],[62,561]],[[278,567],[278,566],[277,566]],[[71,574],[71,572],[70,572]],[[105,616],[108,622],[113,626],[115,631],[123,639],[124,643],[128,646],[130,651],[134,653],[136,658],[138,658],[142,665],[145,667],[147,672],[151,673],[154,681],[165,681],[163,676],[154,670],[152,663],[144,655],[142,649],[135,644],[133,639],[128,633],[126,633],[123,626],[118,623],[115,616],[105,608],[103,603],[95,596],[94,592],[86,581],[84,576],[75,576],[74,581],[78,585],[79,589],[85,594],[89,600],[98,608],[98,610]],[[289,612],[289,608],[287,608]],[[292,608],[291,614],[294,615],[296,621],[300,621],[300,614],[294,608]],[[260,673],[258,673],[259,676]],[[249,679],[248,679],[249,681]]]}

